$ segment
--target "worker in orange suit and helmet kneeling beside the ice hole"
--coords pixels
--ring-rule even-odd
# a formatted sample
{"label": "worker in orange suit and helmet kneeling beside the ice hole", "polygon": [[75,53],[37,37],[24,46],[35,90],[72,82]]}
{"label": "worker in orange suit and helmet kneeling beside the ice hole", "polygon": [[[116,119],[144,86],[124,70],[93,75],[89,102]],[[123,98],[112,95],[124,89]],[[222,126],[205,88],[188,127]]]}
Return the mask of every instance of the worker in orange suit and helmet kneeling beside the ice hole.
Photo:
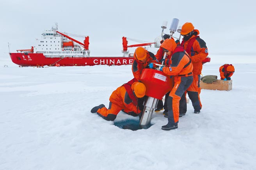
{"label": "worker in orange suit and helmet kneeling beside the ice hole", "polygon": [[132,116],[138,116],[141,112],[138,106],[138,98],[144,97],[145,93],[146,86],[132,79],[113,91],[109,98],[108,109],[101,104],[93,107],[91,112],[97,112],[100,117],[107,121],[114,121],[121,110]]}

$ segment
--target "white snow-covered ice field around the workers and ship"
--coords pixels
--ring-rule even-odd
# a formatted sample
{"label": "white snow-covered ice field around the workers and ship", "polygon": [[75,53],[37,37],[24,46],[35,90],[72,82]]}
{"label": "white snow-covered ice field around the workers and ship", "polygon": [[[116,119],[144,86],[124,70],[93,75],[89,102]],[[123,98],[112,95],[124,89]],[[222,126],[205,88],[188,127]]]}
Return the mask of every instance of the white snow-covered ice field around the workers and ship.
{"label": "white snow-covered ice field around the workers and ship", "polygon": [[[0,60],[1,170],[253,170],[256,169],[256,57],[210,56],[203,75],[235,66],[231,91],[201,90],[178,129],[123,130],[91,108],[133,78],[131,65],[20,68]],[[8,68],[4,67],[8,65]],[[120,112],[115,121],[139,119]]]}

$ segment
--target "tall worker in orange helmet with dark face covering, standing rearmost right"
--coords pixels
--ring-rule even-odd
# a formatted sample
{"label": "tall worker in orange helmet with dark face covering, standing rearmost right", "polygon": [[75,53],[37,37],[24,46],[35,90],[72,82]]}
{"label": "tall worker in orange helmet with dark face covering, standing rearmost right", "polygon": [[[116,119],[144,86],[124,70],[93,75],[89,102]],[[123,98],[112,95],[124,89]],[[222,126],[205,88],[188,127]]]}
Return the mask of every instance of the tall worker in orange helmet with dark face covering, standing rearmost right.
{"label": "tall worker in orange helmet with dark face covering, standing rearmost right", "polygon": [[[180,34],[183,36],[181,46],[183,46],[189,54],[193,64],[194,80],[187,89],[188,97],[194,107],[194,113],[200,113],[202,109],[200,100],[200,74],[203,68],[202,61],[208,56],[208,49],[204,40],[198,36],[199,30],[194,28],[192,23],[185,23],[181,28]],[[185,115],[185,113],[183,113],[183,115]]]}

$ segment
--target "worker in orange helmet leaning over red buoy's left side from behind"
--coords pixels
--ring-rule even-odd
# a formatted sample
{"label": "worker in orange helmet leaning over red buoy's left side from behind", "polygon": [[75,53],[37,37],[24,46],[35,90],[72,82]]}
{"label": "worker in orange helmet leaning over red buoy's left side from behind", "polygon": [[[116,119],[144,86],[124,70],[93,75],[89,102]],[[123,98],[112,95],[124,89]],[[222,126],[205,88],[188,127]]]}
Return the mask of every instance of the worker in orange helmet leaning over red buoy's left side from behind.
{"label": "worker in orange helmet leaning over red buoy's left side from behind", "polygon": [[[139,81],[142,70],[144,68],[149,68],[148,66],[149,63],[156,62],[156,57],[153,53],[147,51],[143,47],[137,47],[135,49],[133,57],[134,57],[134,60],[132,63],[132,73],[134,78]],[[143,103],[146,99],[147,99],[147,96],[144,96],[143,98],[139,98],[138,105],[139,105],[139,108],[142,110],[144,108]]]}

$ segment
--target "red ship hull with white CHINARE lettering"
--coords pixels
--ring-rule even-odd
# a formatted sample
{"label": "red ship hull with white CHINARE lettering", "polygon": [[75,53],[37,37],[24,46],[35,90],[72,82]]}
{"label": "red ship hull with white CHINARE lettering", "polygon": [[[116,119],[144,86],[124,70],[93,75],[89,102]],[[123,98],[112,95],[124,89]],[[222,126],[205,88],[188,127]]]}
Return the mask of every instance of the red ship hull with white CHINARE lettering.
{"label": "red ship hull with white CHINARE lettering", "polygon": [[50,58],[42,53],[9,53],[13,63],[22,67],[48,66],[93,66],[93,65],[131,65],[133,57],[66,57]]}

